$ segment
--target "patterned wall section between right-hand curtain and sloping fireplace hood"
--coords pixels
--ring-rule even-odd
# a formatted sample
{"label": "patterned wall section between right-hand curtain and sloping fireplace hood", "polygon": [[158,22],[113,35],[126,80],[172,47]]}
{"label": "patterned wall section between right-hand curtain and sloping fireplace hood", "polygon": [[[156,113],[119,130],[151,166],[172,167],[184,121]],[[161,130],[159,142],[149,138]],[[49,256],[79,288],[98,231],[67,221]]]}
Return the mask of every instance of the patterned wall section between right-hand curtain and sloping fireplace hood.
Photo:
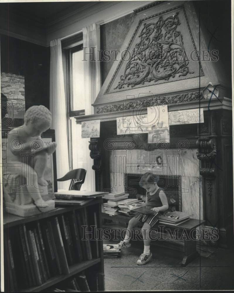
{"label": "patterned wall section between right-hand curtain and sloping fireplace hood", "polygon": [[[128,14],[100,26],[101,50],[119,50],[129,32],[135,13]],[[102,84],[114,62],[115,54],[110,54],[110,61],[101,62]],[[117,61],[115,61],[117,62]]]}

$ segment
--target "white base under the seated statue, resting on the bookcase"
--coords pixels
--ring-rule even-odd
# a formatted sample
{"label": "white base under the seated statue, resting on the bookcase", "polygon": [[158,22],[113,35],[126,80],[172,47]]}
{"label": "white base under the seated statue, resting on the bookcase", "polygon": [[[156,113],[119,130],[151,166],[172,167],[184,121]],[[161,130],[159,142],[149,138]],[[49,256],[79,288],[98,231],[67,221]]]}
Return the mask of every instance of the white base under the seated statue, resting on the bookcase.
{"label": "white base under the seated statue, resting on the bookcase", "polygon": [[10,214],[14,214],[20,217],[31,217],[37,214],[41,214],[42,212],[49,212],[55,209],[55,202],[53,200],[54,194],[48,194],[47,186],[39,186],[40,189],[43,190],[41,193],[42,199],[48,204],[48,207],[37,207],[32,200],[32,196],[30,193],[16,193],[16,198],[21,199],[21,205],[15,202],[6,202],[5,209],[6,212]]}

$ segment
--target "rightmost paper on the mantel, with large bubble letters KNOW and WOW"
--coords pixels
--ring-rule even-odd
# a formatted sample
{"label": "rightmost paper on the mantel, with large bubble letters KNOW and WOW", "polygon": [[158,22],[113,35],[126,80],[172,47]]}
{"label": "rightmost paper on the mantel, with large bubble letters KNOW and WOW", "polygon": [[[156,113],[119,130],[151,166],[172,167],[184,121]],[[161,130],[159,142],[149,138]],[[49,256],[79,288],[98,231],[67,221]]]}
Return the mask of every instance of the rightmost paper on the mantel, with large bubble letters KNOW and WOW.
{"label": "rightmost paper on the mantel, with large bubble letters KNOW and WOW", "polygon": [[[199,118],[200,114],[200,118]],[[204,123],[203,108],[169,112],[169,124]]]}

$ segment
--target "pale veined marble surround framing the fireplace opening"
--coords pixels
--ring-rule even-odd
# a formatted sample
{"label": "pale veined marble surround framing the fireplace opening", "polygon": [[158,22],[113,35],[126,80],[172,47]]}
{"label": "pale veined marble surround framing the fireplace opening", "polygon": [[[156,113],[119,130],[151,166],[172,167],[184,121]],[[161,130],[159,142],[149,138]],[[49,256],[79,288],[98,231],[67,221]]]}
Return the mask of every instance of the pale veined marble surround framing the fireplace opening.
{"label": "pale veined marble surround framing the fireplace opening", "polygon": [[[196,149],[113,150],[109,155],[111,190],[124,190],[125,174],[141,175],[151,171],[164,178],[179,176],[181,180],[178,180],[178,192],[181,192],[182,212],[192,213],[194,218],[203,219],[203,194]],[[167,184],[172,186],[170,182]],[[175,186],[175,192],[176,190]]]}

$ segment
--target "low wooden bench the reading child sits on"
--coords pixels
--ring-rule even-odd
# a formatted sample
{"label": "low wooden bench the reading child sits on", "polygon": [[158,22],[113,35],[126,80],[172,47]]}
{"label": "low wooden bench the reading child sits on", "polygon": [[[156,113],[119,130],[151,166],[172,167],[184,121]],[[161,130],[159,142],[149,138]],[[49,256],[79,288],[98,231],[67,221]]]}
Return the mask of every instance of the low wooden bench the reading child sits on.
{"label": "low wooden bench the reading child sits on", "polygon": [[[115,220],[118,221],[126,226],[126,224],[129,222],[131,217],[125,216],[125,215],[115,215],[115,216],[110,216],[108,214],[102,213],[102,218],[103,219],[108,219],[108,220]],[[199,256],[199,253],[197,252],[197,240],[191,239],[190,233],[200,225],[204,224],[205,221],[203,220],[198,220],[198,219],[189,219],[188,221],[174,226],[171,224],[160,224],[158,223],[155,225],[153,228],[159,228],[159,229],[170,229],[171,233],[175,231],[175,229],[178,229],[178,234],[181,235],[182,232],[187,232],[186,235],[189,236],[189,239],[184,239],[184,250],[183,250],[183,259],[181,262],[182,266],[186,266],[188,263],[190,263],[192,260],[197,258]],[[115,225],[113,225],[115,226]],[[141,225],[140,225],[141,226]],[[139,226],[139,227],[140,227]],[[161,226],[161,228],[159,227]],[[103,228],[105,228],[105,224],[103,224]],[[110,227],[110,226],[108,226]],[[195,233],[194,233],[195,234]]]}

